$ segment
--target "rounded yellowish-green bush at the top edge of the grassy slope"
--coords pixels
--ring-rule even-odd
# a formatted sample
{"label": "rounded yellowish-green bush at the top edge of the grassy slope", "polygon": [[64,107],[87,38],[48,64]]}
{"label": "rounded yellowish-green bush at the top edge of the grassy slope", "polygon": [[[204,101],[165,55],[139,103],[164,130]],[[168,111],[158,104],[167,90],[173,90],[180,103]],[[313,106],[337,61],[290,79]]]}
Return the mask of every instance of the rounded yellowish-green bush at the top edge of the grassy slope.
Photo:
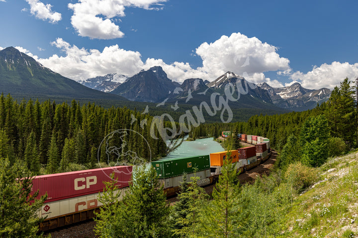
{"label": "rounded yellowish-green bush at the top edge of the grassy slope", "polygon": [[297,193],[300,193],[317,180],[314,169],[297,162],[290,164],[285,173],[285,179]]}

